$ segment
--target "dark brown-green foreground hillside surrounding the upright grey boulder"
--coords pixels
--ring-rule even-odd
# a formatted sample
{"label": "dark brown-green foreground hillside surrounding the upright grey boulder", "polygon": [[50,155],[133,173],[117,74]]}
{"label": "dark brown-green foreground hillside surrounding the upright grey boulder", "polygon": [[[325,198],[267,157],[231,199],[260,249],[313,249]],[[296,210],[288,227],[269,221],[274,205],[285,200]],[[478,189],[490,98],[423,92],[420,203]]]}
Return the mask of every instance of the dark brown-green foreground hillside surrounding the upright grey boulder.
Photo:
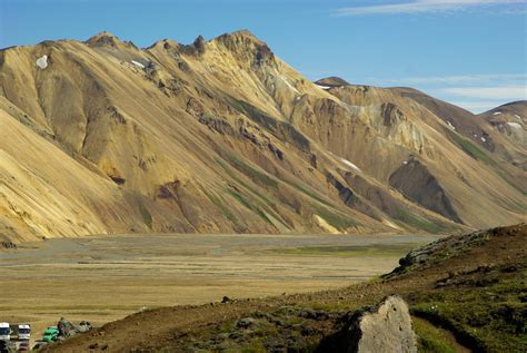
{"label": "dark brown-green foreground hillside surrounding the upright grey boulder", "polygon": [[526,241],[525,224],[450,236],[410,252],[369,283],[147,311],[48,351],[341,351],[354,313],[397,294],[410,306],[422,352],[523,352]]}

